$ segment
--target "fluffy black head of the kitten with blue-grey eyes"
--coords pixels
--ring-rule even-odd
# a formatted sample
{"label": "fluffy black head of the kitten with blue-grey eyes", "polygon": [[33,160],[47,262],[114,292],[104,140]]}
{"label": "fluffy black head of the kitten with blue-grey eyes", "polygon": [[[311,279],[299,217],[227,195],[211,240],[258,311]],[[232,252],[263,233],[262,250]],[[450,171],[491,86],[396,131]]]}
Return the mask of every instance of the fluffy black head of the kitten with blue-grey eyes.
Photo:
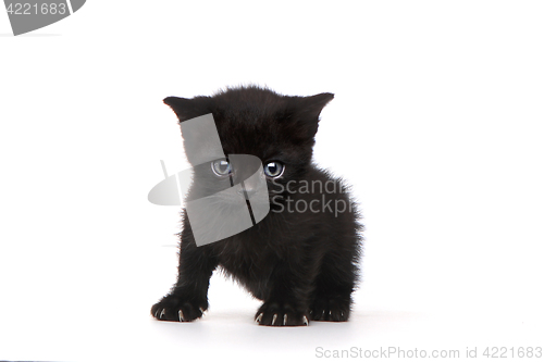
{"label": "fluffy black head of the kitten with blue-grey eyes", "polygon": [[[219,200],[222,194],[218,192],[244,182],[247,192],[243,197],[249,199],[252,204],[277,204],[272,202],[273,198],[285,192],[288,182],[305,178],[311,163],[319,115],[333,97],[332,93],[310,97],[281,96],[269,89],[250,86],[231,88],[212,97],[164,99],[164,103],[170,105],[180,118],[184,148],[194,167],[195,180],[189,199],[215,195],[218,202],[214,204],[235,208],[233,205],[239,205],[237,196],[221,196],[222,199]],[[226,159],[202,163],[199,153],[210,153],[212,150],[212,154],[218,154],[217,138],[214,142],[210,132],[184,128],[183,122],[209,113],[213,114]],[[242,157],[236,158],[233,154]],[[251,161],[244,154],[257,158]],[[250,177],[255,175],[261,162],[265,183],[262,175]],[[268,187],[268,197],[259,199],[258,195],[267,195],[259,192],[263,187]],[[257,196],[250,199],[251,194]],[[243,207],[245,208],[245,203]]]}

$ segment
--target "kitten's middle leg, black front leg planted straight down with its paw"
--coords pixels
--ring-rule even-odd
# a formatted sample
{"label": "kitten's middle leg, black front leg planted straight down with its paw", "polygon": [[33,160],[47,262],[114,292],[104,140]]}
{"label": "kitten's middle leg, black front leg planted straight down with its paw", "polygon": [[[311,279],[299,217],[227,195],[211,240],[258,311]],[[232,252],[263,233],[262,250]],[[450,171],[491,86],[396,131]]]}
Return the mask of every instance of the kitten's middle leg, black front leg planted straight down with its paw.
{"label": "kitten's middle leg, black front leg planted straight down with its paw", "polygon": [[286,264],[279,264],[270,278],[271,289],[255,319],[260,325],[308,325],[309,275]]}

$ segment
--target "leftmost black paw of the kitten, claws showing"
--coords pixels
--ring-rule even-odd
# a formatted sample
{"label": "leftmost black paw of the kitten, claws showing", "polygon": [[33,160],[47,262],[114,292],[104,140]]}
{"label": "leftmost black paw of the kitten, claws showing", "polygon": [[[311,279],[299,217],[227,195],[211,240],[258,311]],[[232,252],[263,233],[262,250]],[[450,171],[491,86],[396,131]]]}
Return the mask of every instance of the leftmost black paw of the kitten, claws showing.
{"label": "leftmost black paw of the kitten, claws showing", "polygon": [[159,321],[191,322],[202,316],[208,301],[195,301],[176,295],[168,295],[151,308],[151,315]]}

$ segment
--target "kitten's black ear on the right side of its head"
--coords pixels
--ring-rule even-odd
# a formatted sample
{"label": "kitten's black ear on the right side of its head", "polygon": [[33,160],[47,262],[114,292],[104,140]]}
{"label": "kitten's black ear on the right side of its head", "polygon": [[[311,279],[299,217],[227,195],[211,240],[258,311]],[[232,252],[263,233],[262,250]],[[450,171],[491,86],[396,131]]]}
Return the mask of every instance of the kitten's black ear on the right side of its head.
{"label": "kitten's black ear on the right side of its head", "polygon": [[310,97],[292,97],[287,111],[287,133],[296,141],[313,139],[318,132],[319,115],[334,98],[333,93],[319,93]]}

